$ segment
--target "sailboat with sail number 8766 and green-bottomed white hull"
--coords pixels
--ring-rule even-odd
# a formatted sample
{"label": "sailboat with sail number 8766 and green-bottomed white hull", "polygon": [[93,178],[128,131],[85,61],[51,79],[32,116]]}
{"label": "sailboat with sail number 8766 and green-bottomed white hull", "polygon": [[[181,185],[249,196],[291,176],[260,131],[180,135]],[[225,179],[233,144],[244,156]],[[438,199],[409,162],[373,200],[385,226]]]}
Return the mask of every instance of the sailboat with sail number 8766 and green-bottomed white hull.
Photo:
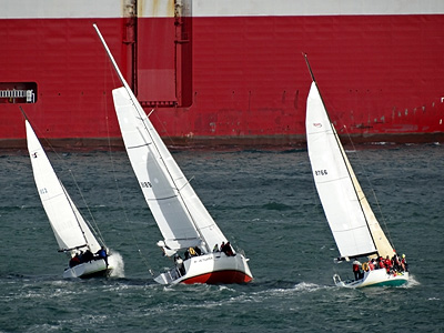
{"label": "sailboat with sail number 8766 and green-bottomed white hull", "polygon": [[[381,229],[353,172],[329,118],[306,54],[304,57],[312,77],[305,120],[309,157],[317,194],[341,254],[340,260],[367,256],[370,261],[394,258],[397,262],[395,250]],[[356,260],[354,265],[361,263]],[[362,287],[401,285],[408,281],[405,269],[377,269],[377,265],[374,270],[369,269],[372,265],[373,262],[363,263],[363,272],[356,274],[354,280],[342,281],[335,274],[334,283]],[[361,266],[357,269],[361,270]]]}

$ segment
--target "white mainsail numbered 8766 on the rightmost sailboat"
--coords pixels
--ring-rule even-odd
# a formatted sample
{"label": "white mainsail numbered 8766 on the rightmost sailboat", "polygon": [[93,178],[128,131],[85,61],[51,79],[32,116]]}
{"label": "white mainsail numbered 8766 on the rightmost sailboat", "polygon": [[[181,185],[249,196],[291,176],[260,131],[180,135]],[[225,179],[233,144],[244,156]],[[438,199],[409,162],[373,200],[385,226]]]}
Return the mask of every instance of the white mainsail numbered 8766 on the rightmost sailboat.
{"label": "white mainsail numbered 8766 on the rightmost sailboat", "polygon": [[306,105],[306,137],[317,193],[341,256],[375,253],[367,220],[379,223],[357,184],[314,81]]}

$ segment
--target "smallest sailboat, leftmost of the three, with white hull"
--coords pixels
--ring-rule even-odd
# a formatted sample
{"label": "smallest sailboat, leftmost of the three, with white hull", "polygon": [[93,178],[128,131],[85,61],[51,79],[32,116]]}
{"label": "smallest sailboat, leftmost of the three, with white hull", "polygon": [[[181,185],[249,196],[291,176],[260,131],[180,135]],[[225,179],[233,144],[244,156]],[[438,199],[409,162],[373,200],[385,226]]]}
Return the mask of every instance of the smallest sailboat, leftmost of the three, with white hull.
{"label": "smallest sailboat, leftmost of the three, with white hull", "polygon": [[98,242],[87,225],[56,175],[28,119],[24,123],[28,151],[41,202],[59,244],[59,252],[65,252],[70,258],[63,278],[109,275],[114,266],[113,255],[108,255],[108,250]]}

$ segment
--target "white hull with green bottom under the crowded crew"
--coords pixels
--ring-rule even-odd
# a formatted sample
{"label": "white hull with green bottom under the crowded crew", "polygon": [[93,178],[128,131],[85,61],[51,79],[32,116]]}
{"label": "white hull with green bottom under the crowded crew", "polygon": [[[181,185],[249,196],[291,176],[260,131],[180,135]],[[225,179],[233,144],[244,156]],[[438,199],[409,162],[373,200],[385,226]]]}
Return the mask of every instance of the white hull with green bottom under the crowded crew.
{"label": "white hull with green bottom under the crowded crew", "polygon": [[342,281],[341,278],[335,274],[333,281],[337,286],[346,287],[363,287],[363,286],[382,286],[382,285],[402,285],[408,282],[408,272],[387,274],[385,269],[369,271],[364,273],[364,278],[356,281]]}

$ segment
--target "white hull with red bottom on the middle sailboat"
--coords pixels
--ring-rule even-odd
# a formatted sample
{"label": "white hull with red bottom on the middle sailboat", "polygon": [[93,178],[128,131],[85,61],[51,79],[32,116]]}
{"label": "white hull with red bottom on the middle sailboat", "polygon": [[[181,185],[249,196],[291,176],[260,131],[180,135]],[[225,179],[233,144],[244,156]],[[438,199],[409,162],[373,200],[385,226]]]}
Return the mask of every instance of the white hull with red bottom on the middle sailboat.
{"label": "white hull with red bottom on the middle sailboat", "polygon": [[208,253],[183,261],[184,272],[174,266],[154,281],[160,284],[246,283],[253,279],[246,261],[240,253],[234,256],[221,252]]}

